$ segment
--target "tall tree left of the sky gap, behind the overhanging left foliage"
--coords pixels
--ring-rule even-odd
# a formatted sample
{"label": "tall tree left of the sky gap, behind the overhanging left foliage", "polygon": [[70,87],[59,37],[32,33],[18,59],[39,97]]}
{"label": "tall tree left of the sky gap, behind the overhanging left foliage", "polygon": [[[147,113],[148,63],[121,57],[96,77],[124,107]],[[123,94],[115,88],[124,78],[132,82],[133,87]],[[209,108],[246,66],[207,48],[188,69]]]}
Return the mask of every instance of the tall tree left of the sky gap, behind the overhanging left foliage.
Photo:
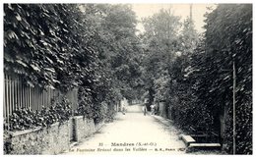
{"label": "tall tree left of the sky gap, behind the overhanging left foliage", "polygon": [[135,89],[141,85],[141,49],[131,6],[96,4],[83,7],[86,16],[91,16],[95,23],[99,59],[111,77],[113,91],[119,97],[136,98]]}

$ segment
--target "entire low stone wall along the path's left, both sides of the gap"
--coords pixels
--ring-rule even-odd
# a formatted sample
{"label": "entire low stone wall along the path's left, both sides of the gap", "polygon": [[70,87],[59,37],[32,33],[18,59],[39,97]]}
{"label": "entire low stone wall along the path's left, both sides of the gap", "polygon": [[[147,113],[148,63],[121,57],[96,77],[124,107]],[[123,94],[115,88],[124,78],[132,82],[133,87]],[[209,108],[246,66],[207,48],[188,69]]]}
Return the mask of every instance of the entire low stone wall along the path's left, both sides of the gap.
{"label": "entire low stone wall along the path's left, both sides of the gap", "polygon": [[4,154],[58,154],[68,150],[71,141],[82,141],[103,124],[95,125],[94,120],[76,116],[61,125],[56,123],[49,128],[10,133],[4,136]]}

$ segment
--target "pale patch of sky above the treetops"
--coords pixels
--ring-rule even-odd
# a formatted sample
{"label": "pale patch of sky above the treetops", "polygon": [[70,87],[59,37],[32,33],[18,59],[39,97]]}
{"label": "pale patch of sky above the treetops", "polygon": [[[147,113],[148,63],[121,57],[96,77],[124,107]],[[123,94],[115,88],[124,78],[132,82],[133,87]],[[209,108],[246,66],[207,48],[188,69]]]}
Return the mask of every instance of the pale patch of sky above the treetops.
{"label": "pale patch of sky above the treetops", "polygon": [[[195,24],[195,28],[199,32],[204,31],[204,20],[205,13],[207,12],[207,7],[214,7],[214,4],[192,4],[192,19]],[[190,15],[190,4],[132,4],[133,11],[136,13],[137,20],[142,18],[147,18],[153,16],[154,14],[160,12],[160,9],[171,8],[173,15],[180,16],[181,22],[183,22]],[[143,31],[143,25],[138,24],[137,28]]]}

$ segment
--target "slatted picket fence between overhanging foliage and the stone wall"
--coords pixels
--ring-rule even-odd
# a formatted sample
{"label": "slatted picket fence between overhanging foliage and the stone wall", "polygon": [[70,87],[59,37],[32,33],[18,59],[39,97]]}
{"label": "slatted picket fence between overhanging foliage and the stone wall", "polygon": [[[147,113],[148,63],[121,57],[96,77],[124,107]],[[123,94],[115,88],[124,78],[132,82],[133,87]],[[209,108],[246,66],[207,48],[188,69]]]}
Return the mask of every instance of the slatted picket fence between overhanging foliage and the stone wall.
{"label": "slatted picket fence between overhanging foliage and the stone wall", "polygon": [[[3,114],[4,119],[9,120],[14,110],[26,107],[31,108],[32,111],[41,110],[42,106],[49,107],[52,98],[60,98],[61,92],[50,87],[40,88],[38,86],[30,87],[24,84],[19,77],[11,77],[5,75],[4,83],[4,105]],[[77,108],[78,92],[73,89],[65,94],[71,102],[73,110]]]}

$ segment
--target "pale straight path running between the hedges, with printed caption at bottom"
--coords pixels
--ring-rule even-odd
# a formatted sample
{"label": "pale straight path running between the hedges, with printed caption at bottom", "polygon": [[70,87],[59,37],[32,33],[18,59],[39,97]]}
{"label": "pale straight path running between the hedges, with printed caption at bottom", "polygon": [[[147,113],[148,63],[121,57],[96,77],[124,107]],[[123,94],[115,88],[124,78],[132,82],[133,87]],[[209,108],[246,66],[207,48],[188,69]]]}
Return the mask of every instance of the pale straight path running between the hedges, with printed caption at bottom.
{"label": "pale straight path running between the hedges, with printed caption at bottom", "polygon": [[144,116],[142,106],[127,107],[113,123],[72,147],[64,154],[184,154],[185,145],[174,127],[166,127],[153,116]]}

